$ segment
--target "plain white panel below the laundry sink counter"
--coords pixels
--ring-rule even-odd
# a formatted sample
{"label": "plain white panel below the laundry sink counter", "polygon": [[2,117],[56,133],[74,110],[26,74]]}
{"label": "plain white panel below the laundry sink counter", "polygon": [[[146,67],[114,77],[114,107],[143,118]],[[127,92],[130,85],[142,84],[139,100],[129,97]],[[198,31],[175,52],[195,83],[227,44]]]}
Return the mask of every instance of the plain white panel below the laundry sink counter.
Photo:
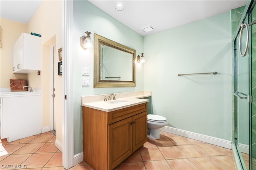
{"label": "plain white panel below the laundry sink counter", "polygon": [[7,142],[41,133],[42,95],[2,98],[1,139]]}

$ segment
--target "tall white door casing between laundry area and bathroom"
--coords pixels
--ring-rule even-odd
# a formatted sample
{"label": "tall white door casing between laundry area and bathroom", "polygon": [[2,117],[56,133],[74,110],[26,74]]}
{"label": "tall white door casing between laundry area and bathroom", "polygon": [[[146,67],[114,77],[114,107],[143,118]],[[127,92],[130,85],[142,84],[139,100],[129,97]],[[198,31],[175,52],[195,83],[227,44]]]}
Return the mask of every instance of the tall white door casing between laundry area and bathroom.
{"label": "tall white door casing between laundry area and bathroom", "polygon": [[69,169],[74,166],[73,0],[62,2],[62,165]]}

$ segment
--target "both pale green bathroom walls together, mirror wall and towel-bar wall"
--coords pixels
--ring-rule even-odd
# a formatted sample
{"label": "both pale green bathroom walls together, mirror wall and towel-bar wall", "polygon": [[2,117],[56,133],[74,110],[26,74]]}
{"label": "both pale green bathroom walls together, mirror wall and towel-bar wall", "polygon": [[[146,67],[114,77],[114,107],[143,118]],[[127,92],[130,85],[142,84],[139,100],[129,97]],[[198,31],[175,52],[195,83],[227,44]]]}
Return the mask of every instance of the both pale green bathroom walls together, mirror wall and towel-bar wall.
{"label": "both pale green bathroom walls together, mirror wall and towel-bar wall", "polygon": [[[75,0],[73,26],[74,154],[82,152],[81,96],[113,92],[151,90],[148,111],[165,116],[168,126],[232,140],[230,12],[142,37],[90,2]],[[146,63],[136,63],[136,87],[93,88],[93,50],[80,47],[85,31],[144,53]],[[90,68],[90,86],[82,86],[82,66]],[[213,71],[218,74],[177,76]]]}

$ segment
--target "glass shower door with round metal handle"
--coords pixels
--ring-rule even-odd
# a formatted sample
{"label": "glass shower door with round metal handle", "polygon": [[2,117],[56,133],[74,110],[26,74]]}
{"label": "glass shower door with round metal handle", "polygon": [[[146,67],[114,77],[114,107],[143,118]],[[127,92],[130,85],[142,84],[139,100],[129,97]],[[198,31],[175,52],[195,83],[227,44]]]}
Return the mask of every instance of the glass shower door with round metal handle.
{"label": "glass shower door with round metal handle", "polygon": [[[248,23],[249,17],[247,16],[244,22]],[[247,25],[248,26],[248,25]],[[248,26],[251,30],[251,26]],[[240,31],[241,32],[241,31]],[[234,56],[234,104],[235,104],[235,145],[238,150],[243,169],[252,169],[250,156],[251,154],[251,51],[250,41],[247,42],[247,28],[245,27],[242,32],[241,41],[238,36],[235,40],[235,56]],[[251,31],[249,31],[251,38]],[[240,45],[241,51],[240,52]],[[246,43],[249,45],[249,50],[246,51]],[[246,53],[246,55],[244,55]]]}

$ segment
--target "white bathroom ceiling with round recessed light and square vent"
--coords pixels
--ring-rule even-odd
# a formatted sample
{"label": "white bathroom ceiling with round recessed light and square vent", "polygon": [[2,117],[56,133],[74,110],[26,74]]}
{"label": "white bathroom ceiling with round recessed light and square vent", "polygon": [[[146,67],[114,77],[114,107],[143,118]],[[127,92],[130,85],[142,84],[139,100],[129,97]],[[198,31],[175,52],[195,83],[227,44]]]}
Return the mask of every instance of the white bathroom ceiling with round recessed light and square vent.
{"label": "white bathroom ceiling with round recessed light and square vent", "polygon": [[[246,5],[246,0],[89,0],[92,4],[141,35],[164,31]],[[118,12],[114,4],[122,2]],[[145,33],[142,27],[155,30]]]}

